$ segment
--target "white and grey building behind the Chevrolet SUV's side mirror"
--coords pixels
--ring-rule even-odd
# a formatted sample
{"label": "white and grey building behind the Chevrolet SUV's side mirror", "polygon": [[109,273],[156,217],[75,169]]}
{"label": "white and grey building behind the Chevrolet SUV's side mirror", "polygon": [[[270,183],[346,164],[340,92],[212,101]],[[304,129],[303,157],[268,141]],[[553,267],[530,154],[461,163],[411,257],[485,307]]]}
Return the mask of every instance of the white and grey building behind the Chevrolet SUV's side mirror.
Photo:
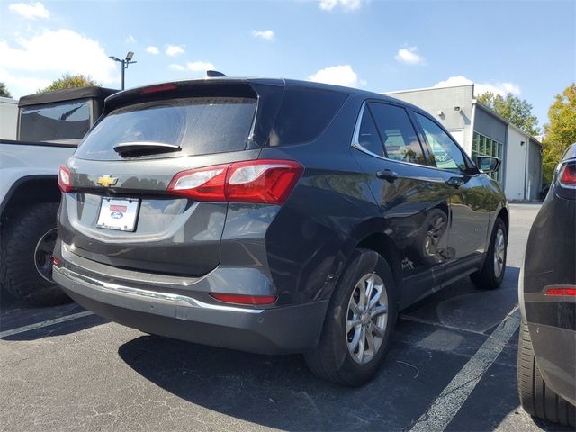
{"label": "white and grey building behind the Chevrolet SUV's side mirror", "polygon": [[387,93],[434,115],[471,157],[500,157],[492,176],[509,200],[538,200],[542,189],[542,144],[473,96],[474,85]]}

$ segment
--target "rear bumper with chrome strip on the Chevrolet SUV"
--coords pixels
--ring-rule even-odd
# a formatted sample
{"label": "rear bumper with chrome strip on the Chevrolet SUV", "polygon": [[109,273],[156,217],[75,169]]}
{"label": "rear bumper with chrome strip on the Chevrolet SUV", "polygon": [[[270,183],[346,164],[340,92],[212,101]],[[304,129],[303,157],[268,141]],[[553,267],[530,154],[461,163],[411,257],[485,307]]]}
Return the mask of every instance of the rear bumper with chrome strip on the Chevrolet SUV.
{"label": "rear bumper with chrome strip on the Chevrolet SUV", "polygon": [[168,338],[260,354],[315,347],[328,307],[328,301],[273,309],[212,304],[112,284],[56,266],[53,278],[72,299],[108,320]]}

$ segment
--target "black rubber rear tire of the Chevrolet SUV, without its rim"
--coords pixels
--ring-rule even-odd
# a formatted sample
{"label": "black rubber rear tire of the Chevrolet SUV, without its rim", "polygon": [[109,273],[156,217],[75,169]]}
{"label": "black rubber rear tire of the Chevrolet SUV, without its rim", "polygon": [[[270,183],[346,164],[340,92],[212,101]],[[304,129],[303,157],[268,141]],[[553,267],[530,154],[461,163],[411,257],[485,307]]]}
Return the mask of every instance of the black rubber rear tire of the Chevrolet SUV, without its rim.
{"label": "black rubber rear tire of the Chevrolet SUV, without its rim", "polygon": [[[348,302],[358,281],[368,274],[375,274],[382,279],[389,299],[388,312],[380,347],[375,350],[368,363],[359,364],[352,358],[347,347],[346,322]],[[390,266],[378,253],[356,249],[338,281],[335,293],[332,294],[320,342],[315,349],[304,354],[312,373],[329,382],[348,386],[359,386],[369,381],[383,363],[397,314],[394,278]]]}

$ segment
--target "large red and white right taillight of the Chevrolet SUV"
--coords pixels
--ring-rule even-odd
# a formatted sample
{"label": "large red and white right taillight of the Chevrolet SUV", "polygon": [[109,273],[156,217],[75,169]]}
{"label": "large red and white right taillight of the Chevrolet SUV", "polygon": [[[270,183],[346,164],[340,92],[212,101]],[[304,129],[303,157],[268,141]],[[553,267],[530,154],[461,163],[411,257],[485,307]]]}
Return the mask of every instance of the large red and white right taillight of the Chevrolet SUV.
{"label": "large red and white right taillight of the Chevrolet SUV", "polygon": [[282,204],[303,171],[302,165],[292,160],[206,166],[176,174],[167,191],[196,201]]}

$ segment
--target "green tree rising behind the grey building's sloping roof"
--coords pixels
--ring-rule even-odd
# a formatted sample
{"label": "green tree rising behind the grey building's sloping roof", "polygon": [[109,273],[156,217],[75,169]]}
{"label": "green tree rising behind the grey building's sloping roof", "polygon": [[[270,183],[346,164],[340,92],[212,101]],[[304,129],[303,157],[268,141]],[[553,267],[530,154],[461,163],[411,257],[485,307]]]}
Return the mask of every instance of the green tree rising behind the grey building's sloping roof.
{"label": "green tree rising behind the grey building's sloping roof", "polygon": [[500,94],[486,92],[478,97],[478,102],[488,106],[528,135],[534,137],[540,134],[538,119],[532,114],[532,105],[514,94],[509,93],[502,97]]}

